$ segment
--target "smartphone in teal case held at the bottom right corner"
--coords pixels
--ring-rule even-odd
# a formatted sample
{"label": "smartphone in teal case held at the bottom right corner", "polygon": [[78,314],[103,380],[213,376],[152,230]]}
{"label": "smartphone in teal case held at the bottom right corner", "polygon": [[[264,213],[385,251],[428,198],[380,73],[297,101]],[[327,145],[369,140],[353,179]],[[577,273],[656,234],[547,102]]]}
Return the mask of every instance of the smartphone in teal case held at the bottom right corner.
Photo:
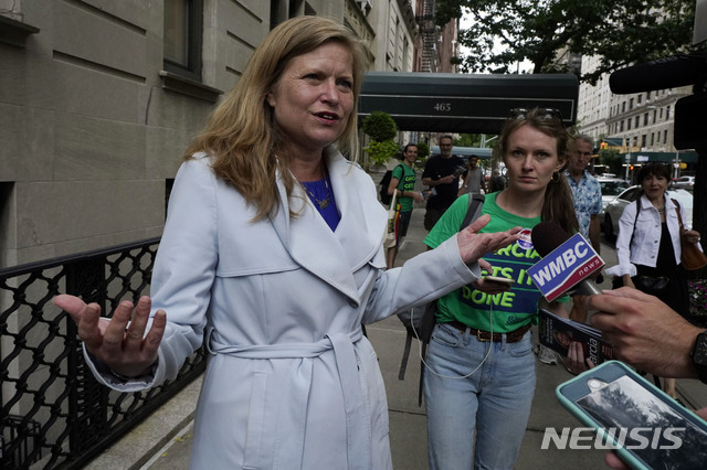
{"label": "smartphone in teal case held at the bottom right corner", "polygon": [[614,448],[634,469],[705,468],[707,423],[622,362],[590,368],[556,394],[593,428],[595,447]]}

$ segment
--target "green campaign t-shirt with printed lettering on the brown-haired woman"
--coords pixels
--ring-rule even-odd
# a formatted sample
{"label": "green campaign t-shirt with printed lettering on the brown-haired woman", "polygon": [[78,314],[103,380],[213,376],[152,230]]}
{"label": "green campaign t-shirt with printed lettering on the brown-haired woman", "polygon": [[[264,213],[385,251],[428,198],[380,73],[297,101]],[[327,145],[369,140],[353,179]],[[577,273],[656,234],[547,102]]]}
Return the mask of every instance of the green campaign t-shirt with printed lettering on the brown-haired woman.
{"label": "green campaign t-shirt with printed lettering on the brown-haired woman", "polygon": [[[515,279],[516,284],[510,290],[495,295],[476,290],[471,284],[453,290],[437,300],[440,323],[456,320],[478,330],[492,331],[489,309],[493,331],[496,333],[508,333],[530,322],[537,322],[538,300],[541,296],[527,269],[540,259],[530,241],[531,229],[540,223],[540,217],[526,218],[509,214],[496,204],[497,195],[498,193],[492,193],[485,197],[482,214],[489,214],[490,222],[482,233],[503,232],[520,226],[523,236],[497,253],[486,254],[484,259],[492,264],[493,276]],[[457,233],[467,206],[468,194],[457,197],[424,243],[435,248]],[[482,273],[486,275],[486,271]]]}

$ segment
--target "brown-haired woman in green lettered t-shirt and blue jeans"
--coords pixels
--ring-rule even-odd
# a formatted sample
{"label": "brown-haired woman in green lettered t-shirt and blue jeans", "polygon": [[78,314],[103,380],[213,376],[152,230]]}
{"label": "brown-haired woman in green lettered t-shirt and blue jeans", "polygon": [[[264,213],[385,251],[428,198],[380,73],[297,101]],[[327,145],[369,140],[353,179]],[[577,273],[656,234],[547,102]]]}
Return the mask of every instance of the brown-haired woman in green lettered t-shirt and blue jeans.
{"label": "brown-haired woman in green lettered t-shirt and blue jeans", "polygon": [[[572,196],[561,174],[569,136],[555,109],[514,109],[498,138],[508,188],[485,196],[484,231],[520,225],[521,238],[487,253],[489,275],[513,288],[477,279],[437,300],[437,324],[430,341],[424,394],[430,468],[510,469],[520,448],[535,393],[529,333],[538,305],[567,318],[560,301],[548,305],[526,270],[540,256],[530,233],[541,221],[577,232]],[[434,248],[458,231],[467,212],[460,197],[432,228]],[[474,447],[473,447],[473,442]]]}

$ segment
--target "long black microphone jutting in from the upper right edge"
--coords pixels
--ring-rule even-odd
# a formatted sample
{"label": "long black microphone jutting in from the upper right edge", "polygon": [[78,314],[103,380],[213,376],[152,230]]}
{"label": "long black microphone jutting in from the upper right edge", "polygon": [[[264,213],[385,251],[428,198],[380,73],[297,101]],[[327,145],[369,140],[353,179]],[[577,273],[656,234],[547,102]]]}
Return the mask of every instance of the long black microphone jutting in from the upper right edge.
{"label": "long black microphone jutting in from the upper right edge", "polygon": [[618,95],[701,84],[707,81],[706,54],[678,54],[615,71],[609,86]]}

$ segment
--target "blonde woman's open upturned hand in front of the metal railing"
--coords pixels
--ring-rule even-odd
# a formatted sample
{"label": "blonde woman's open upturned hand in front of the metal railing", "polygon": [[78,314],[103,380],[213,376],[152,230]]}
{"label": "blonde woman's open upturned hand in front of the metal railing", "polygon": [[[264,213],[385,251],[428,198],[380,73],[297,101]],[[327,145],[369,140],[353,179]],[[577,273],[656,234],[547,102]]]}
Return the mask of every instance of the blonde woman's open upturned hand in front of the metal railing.
{"label": "blonde woman's open upturned hand in front of the metal railing", "polygon": [[97,303],[86,303],[78,297],[62,293],[53,302],[76,322],[86,350],[112,371],[137,377],[146,374],[157,360],[167,316],[158,310],[145,334],[151,308],[149,297],[140,297],[135,308],[133,302],[122,301],[112,319],[101,318]]}

